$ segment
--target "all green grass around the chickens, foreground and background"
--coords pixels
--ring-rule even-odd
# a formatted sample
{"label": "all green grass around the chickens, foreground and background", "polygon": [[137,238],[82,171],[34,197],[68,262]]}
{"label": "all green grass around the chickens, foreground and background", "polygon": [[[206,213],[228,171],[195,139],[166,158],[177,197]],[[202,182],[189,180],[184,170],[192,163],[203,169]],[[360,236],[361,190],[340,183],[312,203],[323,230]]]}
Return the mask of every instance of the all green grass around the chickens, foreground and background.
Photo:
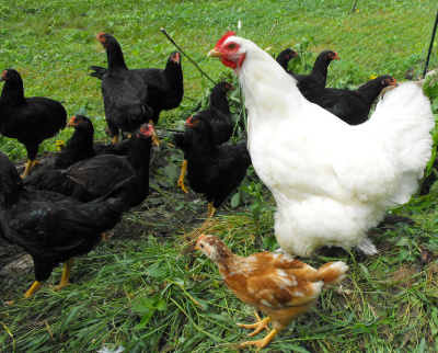
{"label": "all green grass around the chickens, foreground and background", "polygon": [[[105,64],[104,50],[93,38],[102,31],[120,42],[129,67],[163,67],[174,50],[160,32],[165,27],[215,80],[232,79],[231,70],[206,54],[226,30],[238,30],[239,20],[238,32],[273,55],[288,46],[302,48],[312,64],[322,49],[335,49],[342,60],[330,68],[330,86],[358,84],[370,75],[402,80],[411,68],[414,75],[423,71],[419,60],[427,52],[435,1],[358,1],[359,11],[351,8],[349,0],[47,0],[43,5],[3,0],[0,62],[22,72],[27,95],[60,100],[69,115],[85,111],[99,139],[105,139],[102,98],[99,82],[87,72],[91,65]],[[308,69],[304,64],[300,67]],[[430,66],[437,65],[434,48]],[[198,101],[205,104],[211,87],[186,58],[183,68],[185,99],[160,119],[164,136],[181,128]],[[233,94],[238,119],[239,92]],[[56,138],[70,135],[66,130]],[[54,150],[54,141],[41,151]],[[0,148],[15,160],[25,156],[12,139],[0,137]],[[16,300],[0,307],[0,351],[96,352],[103,345],[123,345],[127,352],[238,351],[247,332],[235,322],[253,320],[253,310],[230,293],[214,263],[193,250],[188,236],[196,237],[207,206],[201,196],[183,195],[174,186],[181,158],[173,149],[157,151],[151,195],[125,215],[111,241],[77,259],[71,286],[59,293],[48,288],[59,282],[59,266],[42,291],[19,300],[34,281],[33,269],[0,277],[1,299]],[[276,249],[273,201],[253,172],[232,200],[205,230],[241,255]],[[438,252],[436,197],[416,198],[396,212],[416,224],[372,231],[379,255],[332,249],[306,260],[313,266],[346,261],[347,280],[324,293],[265,351],[438,351],[438,263],[433,258],[424,266],[417,264],[420,246]],[[2,266],[25,254],[2,241],[0,247]]]}

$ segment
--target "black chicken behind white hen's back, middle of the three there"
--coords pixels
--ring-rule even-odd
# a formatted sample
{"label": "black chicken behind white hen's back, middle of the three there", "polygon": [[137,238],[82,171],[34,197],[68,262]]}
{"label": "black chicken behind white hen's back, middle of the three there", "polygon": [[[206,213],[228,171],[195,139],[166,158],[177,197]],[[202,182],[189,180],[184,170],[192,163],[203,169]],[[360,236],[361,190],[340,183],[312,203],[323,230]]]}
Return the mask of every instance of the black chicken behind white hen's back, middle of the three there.
{"label": "black chicken behind white hen's back, middle of the three there", "polygon": [[315,88],[324,88],[327,81],[327,68],[330,62],[339,59],[336,52],[324,50],[318,57],[309,75],[292,73],[297,80],[297,88],[301,93]]}

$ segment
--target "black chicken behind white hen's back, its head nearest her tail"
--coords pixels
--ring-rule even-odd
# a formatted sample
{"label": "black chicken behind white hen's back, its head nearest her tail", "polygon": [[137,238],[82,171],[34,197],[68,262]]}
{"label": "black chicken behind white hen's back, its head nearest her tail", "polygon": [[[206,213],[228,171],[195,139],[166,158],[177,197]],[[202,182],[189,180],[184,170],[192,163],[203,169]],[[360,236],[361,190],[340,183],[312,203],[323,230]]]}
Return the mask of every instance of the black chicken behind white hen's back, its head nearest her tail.
{"label": "black chicken behind white hen's back, its head nearest her tail", "polygon": [[304,98],[315,103],[349,125],[359,125],[368,121],[374,100],[388,86],[397,86],[391,76],[379,76],[360,86],[357,90],[312,89],[303,92]]}

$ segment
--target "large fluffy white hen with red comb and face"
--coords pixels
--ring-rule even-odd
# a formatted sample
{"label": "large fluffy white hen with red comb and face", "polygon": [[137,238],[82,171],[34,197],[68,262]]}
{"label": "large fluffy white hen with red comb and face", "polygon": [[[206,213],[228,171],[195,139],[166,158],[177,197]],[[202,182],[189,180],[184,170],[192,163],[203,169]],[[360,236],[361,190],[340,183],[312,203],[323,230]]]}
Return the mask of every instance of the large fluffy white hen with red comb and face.
{"label": "large fluffy white hen with red comb and face", "polygon": [[249,150],[277,202],[275,236],[288,253],[322,246],[377,253],[367,238],[406,203],[430,158],[434,119],[415,83],[392,90],[349,126],[307,101],[296,80],[253,42],[227,33],[209,52],[234,69],[249,111]]}

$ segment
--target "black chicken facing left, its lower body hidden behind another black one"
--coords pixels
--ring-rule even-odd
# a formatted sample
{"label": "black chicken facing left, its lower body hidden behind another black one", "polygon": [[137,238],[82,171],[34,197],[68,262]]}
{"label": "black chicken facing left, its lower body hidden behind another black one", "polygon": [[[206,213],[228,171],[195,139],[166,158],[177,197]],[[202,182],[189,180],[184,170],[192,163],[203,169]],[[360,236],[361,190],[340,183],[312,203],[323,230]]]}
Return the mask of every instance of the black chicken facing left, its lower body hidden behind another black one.
{"label": "black chicken facing left, its lower body hidden behind another black one", "polygon": [[74,115],[67,124],[73,127],[74,133],[67,141],[55,160],[55,169],[66,169],[81,160],[89,159],[99,155],[126,156],[129,150],[130,139],[110,145],[95,145],[93,123],[83,115]]}

